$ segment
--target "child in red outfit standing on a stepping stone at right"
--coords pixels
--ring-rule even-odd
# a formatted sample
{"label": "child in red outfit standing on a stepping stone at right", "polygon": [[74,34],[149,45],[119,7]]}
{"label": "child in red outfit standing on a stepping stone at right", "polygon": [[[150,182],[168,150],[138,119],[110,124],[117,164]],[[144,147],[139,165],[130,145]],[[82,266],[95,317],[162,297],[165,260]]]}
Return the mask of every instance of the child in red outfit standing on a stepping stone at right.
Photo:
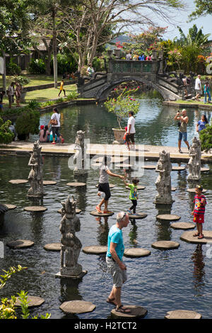
{"label": "child in red outfit standing on a stepping stone at right", "polygon": [[196,223],[197,232],[193,235],[194,237],[198,237],[199,239],[204,238],[202,233],[203,223],[204,223],[204,213],[206,206],[206,197],[202,195],[203,187],[197,185],[195,188],[196,195],[194,196],[194,210],[192,211],[192,215],[194,215],[194,222]]}

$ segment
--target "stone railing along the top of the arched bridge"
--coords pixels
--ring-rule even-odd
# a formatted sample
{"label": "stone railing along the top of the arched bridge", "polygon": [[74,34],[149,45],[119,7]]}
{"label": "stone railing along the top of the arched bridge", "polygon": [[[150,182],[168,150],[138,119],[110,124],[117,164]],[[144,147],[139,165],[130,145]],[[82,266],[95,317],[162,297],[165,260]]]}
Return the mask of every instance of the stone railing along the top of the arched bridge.
{"label": "stone railing along the top of the arched bridge", "polygon": [[156,73],[158,62],[155,61],[140,61],[140,60],[110,60],[109,73]]}

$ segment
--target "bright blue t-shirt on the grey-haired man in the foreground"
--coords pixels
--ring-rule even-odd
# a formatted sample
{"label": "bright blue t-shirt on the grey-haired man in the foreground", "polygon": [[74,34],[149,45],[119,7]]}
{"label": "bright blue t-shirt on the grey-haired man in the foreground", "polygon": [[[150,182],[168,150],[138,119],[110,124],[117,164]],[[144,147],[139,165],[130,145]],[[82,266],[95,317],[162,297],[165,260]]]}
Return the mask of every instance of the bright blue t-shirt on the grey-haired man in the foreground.
{"label": "bright blue t-shirt on the grey-haired man in the foreground", "polygon": [[112,257],[110,254],[111,242],[117,244],[116,246],[117,256],[119,257],[120,260],[122,260],[122,256],[124,254],[124,240],[122,236],[122,230],[119,229],[116,225],[112,225],[107,237],[107,244],[108,244],[107,256],[109,256],[110,258]]}

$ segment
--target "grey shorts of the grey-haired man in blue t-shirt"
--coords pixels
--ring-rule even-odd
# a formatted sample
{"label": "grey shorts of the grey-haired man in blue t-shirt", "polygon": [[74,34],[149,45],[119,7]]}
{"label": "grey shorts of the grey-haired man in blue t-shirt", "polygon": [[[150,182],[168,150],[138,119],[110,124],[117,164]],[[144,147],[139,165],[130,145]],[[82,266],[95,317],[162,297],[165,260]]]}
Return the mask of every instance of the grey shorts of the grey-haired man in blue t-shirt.
{"label": "grey shorts of the grey-haired man in blue t-shirt", "polygon": [[126,270],[122,271],[119,265],[109,256],[106,256],[106,264],[109,273],[112,275],[115,288],[121,288],[122,284],[127,280]]}

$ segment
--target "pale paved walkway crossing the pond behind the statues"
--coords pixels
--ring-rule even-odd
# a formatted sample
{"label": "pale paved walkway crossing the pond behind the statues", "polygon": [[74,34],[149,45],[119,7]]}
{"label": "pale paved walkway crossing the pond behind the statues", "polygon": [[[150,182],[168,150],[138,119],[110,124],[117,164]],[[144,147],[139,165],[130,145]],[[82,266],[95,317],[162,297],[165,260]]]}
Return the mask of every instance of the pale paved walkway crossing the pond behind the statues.
{"label": "pale paved walkway crossing the pond behind the statues", "polygon": [[[40,143],[42,147],[42,154],[59,154],[59,155],[72,155],[76,150],[74,144],[61,144],[51,145],[50,143]],[[32,152],[33,142],[12,142],[9,145],[0,145],[0,154],[29,154]],[[131,151],[131,156],[141,156],[149,160],[158,160],[159,152],[165,150],[170,152],[170,158],[177,162],[187,162],[189,159],[187,147],[182,147],[183,154],[179,154],[177,147],[167,146],[153,146],[153,145],[136,145],[136,151]],[[87,149],[87,153],[90,155],[95,154],[109,154],[112,156],[129,156],[129,151],[125,145],[105,145],[105,144],[90,144]],[[211,154],[202,154],[202,160],[206,162],[212,162]]]}

